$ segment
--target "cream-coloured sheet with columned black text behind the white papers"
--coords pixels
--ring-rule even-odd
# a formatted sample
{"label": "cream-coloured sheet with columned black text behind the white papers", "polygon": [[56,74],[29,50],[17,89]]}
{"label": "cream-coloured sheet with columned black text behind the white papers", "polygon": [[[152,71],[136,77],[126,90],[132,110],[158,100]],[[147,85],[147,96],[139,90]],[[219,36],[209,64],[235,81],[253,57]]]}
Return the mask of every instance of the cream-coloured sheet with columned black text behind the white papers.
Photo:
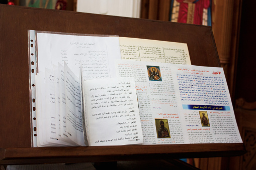
{"label": "cream-coloured sheet with columned black text behind the white papers", "polygon": [[122,59],[173,64],[191,64],[185,43],[119,37]]}

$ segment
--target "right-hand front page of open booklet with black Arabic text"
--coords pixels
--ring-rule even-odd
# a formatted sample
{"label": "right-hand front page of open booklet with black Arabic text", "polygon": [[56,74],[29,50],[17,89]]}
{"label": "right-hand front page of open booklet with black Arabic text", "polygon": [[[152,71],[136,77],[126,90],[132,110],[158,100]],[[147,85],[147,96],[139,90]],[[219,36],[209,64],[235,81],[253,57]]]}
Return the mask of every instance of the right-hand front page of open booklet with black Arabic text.
{"label": "right-hand front page of open booklet with black Arabic text", "polygon": [[84,81],[90,144],[141,144],[139,109],[133,78]]}

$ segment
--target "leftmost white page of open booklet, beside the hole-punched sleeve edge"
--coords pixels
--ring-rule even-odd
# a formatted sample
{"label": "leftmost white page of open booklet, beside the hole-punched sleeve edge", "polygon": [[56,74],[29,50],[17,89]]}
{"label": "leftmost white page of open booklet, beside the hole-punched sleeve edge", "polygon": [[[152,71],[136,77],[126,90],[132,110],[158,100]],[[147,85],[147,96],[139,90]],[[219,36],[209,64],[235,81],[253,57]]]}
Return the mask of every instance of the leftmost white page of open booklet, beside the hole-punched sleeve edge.
{"label": "leftmost white page of open booklet, beside the hole-punched sleeve edge", "polygon": [[[55,105],[54,105],[54,75],[50,70],[41,72],[36,76],[36,86],[38,109],[38,146],[66,146],[68,143],[58,139],[55,124]],[[51,109],[53,109],[51,111]]]}

